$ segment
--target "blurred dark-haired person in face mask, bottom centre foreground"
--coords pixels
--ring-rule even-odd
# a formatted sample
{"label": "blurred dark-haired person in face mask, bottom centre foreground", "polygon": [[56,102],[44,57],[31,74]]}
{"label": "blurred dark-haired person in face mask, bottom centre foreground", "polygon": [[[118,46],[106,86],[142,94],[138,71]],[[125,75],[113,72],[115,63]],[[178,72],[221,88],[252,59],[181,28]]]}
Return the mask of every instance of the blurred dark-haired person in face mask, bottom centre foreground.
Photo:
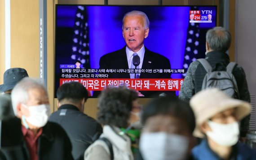
{"label": "blurred dark-haired person in face mask, bottom centre foreground", "polygon": [[160,97],[149,102],[142,113],[141,157],[136,160],[191,160],[195,117],[189,104]]}

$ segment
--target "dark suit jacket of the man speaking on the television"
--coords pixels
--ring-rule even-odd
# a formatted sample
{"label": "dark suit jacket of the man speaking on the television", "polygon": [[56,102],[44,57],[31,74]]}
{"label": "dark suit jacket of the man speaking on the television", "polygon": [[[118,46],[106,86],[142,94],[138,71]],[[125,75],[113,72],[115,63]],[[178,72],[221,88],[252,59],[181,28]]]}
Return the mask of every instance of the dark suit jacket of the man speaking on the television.
{"label": "dark suit jacket of the man speaking on the television", "polygon": [[[128,61],[125,48],[110,52],[100,58],[100,69],[128,69]],[[165,56],[151,52],[145,47],[145,54],[141,69],[171,69],[170,61]],[[109,74],[108,78],[130,78],[129,73]],[[140,78],[171,78],[170,73],[141,73]],[[162,91],[140,91],[149,97],[158,95]],[[173,93],[172,93],[173,95]]]}

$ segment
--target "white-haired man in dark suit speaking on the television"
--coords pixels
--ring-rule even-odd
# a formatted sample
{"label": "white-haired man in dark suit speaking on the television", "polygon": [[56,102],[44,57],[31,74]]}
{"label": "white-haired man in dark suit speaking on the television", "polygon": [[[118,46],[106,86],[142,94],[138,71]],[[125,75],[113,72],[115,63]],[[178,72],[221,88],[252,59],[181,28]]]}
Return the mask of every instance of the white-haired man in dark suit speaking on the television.
{"label": "white-haired man in dark suit speaking on the television", "polygon": [[[132,59],[136,55],[140,57],[137,69],[171,69],[168,58],[151,52],[144,46],[144,39],[149,35],[149,24],[147,15],[141,11],[126,13],[123,17],[122,26],[126,46],[115,52],[103,55],[100,58],[100,69],[135,69]],[[109,74],[108,78],[171,78],[171,74],[140,73],[136,74],[135,77],[135,74],[115,73]],[[152,95],[153,92],[150,94]]]}

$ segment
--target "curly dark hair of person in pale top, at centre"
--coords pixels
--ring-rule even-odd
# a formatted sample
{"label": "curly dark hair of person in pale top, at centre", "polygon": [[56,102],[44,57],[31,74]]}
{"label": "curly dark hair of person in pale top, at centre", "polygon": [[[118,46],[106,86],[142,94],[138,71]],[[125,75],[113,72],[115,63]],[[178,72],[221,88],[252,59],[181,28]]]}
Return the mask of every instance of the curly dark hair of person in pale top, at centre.
{"label": "curly dark hair of person in pale top, at centre", "polygon": [[99,96],[97,119],[102,125],[127,127],[137,92],[126,87],[107,88]]}

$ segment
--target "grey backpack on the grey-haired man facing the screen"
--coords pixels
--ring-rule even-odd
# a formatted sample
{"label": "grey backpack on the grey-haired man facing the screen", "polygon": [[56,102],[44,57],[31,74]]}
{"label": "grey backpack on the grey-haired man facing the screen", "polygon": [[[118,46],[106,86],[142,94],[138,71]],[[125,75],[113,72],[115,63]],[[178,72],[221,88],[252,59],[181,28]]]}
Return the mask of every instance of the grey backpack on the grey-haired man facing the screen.
{"label": "grey backpack on the grey-haired man facing the screen", "polygon": [[207,74],[203,78],[202,90],[210,87],[219,88],[224,91],[230,97],[239,99],[238,86],[232,71],[236,65],[234,62],[230,62],[225,70],[217,71],[212,70],[212,66],[209,62],[203,58],[198,59]]}

